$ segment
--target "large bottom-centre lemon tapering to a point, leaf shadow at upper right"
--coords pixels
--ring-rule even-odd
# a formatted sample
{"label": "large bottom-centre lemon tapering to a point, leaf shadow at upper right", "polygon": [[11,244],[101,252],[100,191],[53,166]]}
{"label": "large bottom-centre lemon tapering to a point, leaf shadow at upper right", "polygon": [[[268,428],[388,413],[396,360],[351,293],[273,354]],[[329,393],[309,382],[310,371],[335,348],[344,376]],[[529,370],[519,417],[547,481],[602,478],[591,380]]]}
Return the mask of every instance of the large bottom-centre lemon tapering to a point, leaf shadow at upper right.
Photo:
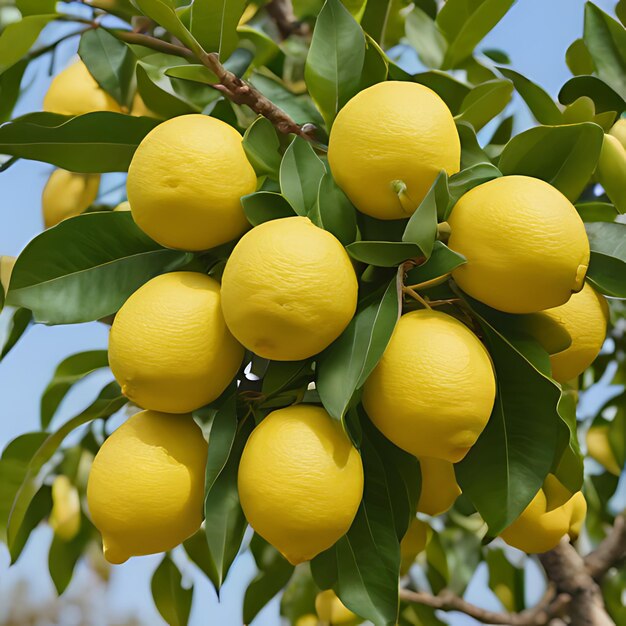
{"label": "large bottom-centre lemon tapering to a point, leaf shadow at upper right", "polygon": [[292,564],[343,536],[363,495],[361,457],[324,409],[298,404],[270,413],[239,465],[239,498],[254,530]]}

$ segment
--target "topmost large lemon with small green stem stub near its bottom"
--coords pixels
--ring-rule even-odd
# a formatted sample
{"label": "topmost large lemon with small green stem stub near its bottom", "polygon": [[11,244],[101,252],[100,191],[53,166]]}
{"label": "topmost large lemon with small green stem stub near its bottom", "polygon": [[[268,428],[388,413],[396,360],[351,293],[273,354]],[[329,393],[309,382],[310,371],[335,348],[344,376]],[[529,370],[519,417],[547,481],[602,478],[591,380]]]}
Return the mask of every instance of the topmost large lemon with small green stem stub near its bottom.
{"label": "topmost large lemon with small green stem stub near its bottom", "polygon": [[[339,111],[328,162],[359,211],[393,220],[415,211],[441,170],[459,171],[461,144],[452,113],[434,91],[388,81],[364,89]],[[396,181],[406,186],[402,202]]]}

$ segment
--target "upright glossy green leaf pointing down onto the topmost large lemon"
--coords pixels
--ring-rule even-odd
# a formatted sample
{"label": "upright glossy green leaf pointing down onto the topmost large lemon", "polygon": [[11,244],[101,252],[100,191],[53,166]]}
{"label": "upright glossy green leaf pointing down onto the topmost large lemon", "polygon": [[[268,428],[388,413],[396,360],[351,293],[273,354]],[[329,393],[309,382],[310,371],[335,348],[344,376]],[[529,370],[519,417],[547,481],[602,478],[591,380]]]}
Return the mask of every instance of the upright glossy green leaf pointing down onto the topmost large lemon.
{"label": "upright glossy green leaf pointing down onto the topmost large lemon", "polygon": [[357,93],[364,60],[363,30],[339,0],[326,0],[315,23],[304,76],[328,129]]}

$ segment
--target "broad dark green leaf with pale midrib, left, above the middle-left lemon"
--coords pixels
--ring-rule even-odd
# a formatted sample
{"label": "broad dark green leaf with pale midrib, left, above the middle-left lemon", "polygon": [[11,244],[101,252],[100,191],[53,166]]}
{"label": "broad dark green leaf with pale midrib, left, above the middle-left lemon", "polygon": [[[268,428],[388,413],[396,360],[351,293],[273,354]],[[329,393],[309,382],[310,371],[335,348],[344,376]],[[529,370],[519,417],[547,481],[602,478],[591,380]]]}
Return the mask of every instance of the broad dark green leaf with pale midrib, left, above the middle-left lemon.
{"label": "broad dark green leaf with pale midrib, left, above the middle-left lemon", "polygon": [[18,257],[7,302],[38,322],[75,324],[115,313],[157,274],[182,267],[191,253],[162,248],[130,212],[85,213],[35,237]]}

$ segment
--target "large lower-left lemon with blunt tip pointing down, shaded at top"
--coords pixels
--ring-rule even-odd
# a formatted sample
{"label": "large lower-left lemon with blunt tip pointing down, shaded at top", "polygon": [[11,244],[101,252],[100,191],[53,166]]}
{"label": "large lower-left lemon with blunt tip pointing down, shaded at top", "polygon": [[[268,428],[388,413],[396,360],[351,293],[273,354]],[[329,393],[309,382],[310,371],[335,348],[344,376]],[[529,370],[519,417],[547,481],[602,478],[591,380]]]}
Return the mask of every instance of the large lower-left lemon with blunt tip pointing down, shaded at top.
{"label": "large lower-left lemon with blunt tip pointing down, shaded at top", "polygon": [[87,502],[109,563],[171,550],[200,528],[206,457],[191,415],[142,411],[102,444]]}

